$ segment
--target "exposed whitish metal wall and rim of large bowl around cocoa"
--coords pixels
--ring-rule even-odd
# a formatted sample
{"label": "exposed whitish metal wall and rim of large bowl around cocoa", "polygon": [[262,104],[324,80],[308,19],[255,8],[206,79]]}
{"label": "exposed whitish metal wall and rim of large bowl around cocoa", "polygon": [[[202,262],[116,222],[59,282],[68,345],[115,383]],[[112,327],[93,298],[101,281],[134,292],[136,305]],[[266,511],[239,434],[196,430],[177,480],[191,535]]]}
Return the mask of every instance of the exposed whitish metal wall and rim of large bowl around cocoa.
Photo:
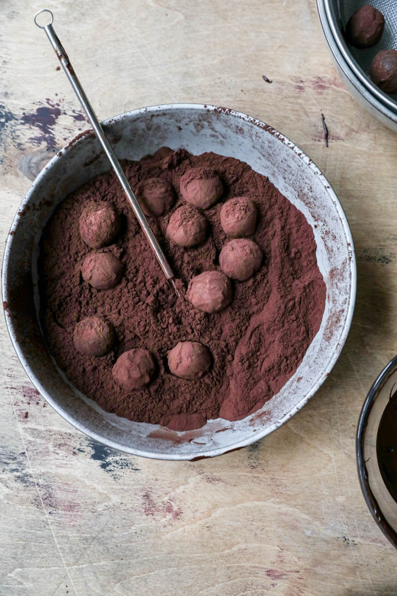
{"label": "exposed whitish metal wall and rim of large bowl around cocoa", "polygon": [[109,169],[92,132],[62,149],[21,203],[5,247],[2,290],[12,343],[30,380],[65,420],[94,439],[128,453],[168,460],[212,457],[273,432],[309,401],[332,370],[351,324],[356,269],[351,232],[326,178],[292,142],[234,110],[198,104],[158,105],[107,120],[120,159],[138,160],[162,145],[193,154],[214,151],[247,162],[270,178],[312,226],[327,286],[320,330],[292,378],[259,411],[236,422],[210,420],[174,432],[108,414],[72,387],[46,349],[37,323],[37,255],[43,227],[71,191]]}

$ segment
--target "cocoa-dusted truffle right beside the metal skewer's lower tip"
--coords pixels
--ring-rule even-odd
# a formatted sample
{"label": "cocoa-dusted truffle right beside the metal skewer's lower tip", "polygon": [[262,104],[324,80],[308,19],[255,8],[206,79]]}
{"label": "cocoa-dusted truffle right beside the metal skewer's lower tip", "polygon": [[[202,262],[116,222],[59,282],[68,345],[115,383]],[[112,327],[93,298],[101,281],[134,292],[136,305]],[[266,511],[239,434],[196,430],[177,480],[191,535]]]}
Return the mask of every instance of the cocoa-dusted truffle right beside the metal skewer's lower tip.
{"label": "cocoa-dusted truffle right beside the metal skewer's lower tip", "polygon": [[232,284],[221,271],[204,271],[193,277],[187,286],[186,297],[195,308],[204,312],[218,312],[232,302]]}

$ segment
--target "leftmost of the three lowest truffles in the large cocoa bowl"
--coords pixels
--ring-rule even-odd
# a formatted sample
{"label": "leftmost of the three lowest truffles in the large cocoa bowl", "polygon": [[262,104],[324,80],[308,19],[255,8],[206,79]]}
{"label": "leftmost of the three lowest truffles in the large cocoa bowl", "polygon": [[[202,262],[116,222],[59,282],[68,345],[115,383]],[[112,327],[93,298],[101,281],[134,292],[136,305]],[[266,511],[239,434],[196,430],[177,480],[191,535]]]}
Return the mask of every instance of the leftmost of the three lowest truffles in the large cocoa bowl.
{"label": "leftmost of the three lowest truffles in the large cocoa bowl", "polygon": [[111,349],[114,338],[113,325],[99,316],[86,316],[73,331],[74,347],[87,356],[104,356]]}

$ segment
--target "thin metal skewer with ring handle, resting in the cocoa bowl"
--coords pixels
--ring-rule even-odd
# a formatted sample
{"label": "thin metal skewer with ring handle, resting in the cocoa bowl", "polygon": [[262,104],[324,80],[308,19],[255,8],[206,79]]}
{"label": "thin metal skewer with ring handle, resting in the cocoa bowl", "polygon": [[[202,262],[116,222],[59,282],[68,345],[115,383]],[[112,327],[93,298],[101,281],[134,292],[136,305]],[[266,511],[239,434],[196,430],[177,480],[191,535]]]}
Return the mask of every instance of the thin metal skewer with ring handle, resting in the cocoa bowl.
{"label": "thin metal skewer with ring handle, resting in the cocoa bowl", "polygon": [[[39,16],[39,14],[43,14],[43,13],[48,14],[49,23],[40,25],[37,22],[37,17]],[[171,285],[173,285],[174,290],[176,291],[177,295],[179,296],[179,292],[177,291],[177,288],[176,288],[176,285],[174,282],[173,270],[171,269],[170,265],[168,264],[168,261],[165,258],[165,254],[162,252],[161,246],[158,243],[157,238],[155,237],[151,227],[149,226],[149,222],[146,219],[145,214],[143,213],[143,211],[140,207],[140,204],[137,201],[135,194],[133,193],[131,185],[130,185],[129,181],[127,180],[127,176],[124,174],[123,169],[121,169],[120,163],[118,162],[118,159],[115,156],[115,153],[111,148],[110,142],[108,141],[107,136],[105,135],[104,130],[102,129],[101,123],[99,122],[98,118],[96,117],[96,114],[92,109],[92,105],[89,103],[89,100],[88,100],[82,86],[80,85],[80,81],[77,78],[76,74],[74,73],[74,70],[73,70],[73,67],[71,66],[68,55],[65,52],[57,34],[55,33],[54,27],[52,27],[53,21],[54,21],[54,15],[51,13],[51,10],[48,10],[47,8],[43,8],[43,10],[39,10],[35,14],[35,24],[37,25],[37,27],[40,27],[40,29],[45,30],[46,35],[47,35],[52,47],[55,50],[55,54],[57,54],[58,59],[60,60],[60,63],[62,64],[62,67],[65,71],[65,75],[68,77],[70,84],[73,87],[73,90],[76,93],[77,98],[80,101],[80,104],[82,104],[83,110],[85,110],[87,117],[92,125],[92,128],[93,128],[96,136],[98,137],[99,142],[101,143],[105,153],[107,154],[107,157],[111,163],[111,166],[114,169],[115,175],[117,176],[118,181],[120,182],[121,186],[123,187],[124,193],[126,194],[126,197],[129,200],[130,205],[132,206],[132,209],[133,209],[133,212],[135,213],[136,219],[139,222],[140,227],[143,229],[143,232],[144,232],[146,238],[148,239],[151,249],[154,252],[155,257],[157,258],[158,263],[160,264],[160,267],[161,267],[162,271],[164,272],[165,277],[167,278],[167,280],[169,280],[171,282]]]}

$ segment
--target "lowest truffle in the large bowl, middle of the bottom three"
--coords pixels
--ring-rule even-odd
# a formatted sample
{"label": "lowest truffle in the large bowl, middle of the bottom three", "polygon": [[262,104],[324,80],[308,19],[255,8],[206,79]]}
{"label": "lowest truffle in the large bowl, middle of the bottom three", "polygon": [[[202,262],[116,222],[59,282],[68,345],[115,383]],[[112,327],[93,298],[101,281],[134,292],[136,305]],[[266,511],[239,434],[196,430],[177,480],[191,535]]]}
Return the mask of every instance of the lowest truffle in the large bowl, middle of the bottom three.
{"label": "lowest truffle in the large bowl, middle of the bottom three", "polygon": [[154,359],[148,350],[137,347],[119,356],[112,370],[114,380],[126,391],[142,389],[153,378]]}

